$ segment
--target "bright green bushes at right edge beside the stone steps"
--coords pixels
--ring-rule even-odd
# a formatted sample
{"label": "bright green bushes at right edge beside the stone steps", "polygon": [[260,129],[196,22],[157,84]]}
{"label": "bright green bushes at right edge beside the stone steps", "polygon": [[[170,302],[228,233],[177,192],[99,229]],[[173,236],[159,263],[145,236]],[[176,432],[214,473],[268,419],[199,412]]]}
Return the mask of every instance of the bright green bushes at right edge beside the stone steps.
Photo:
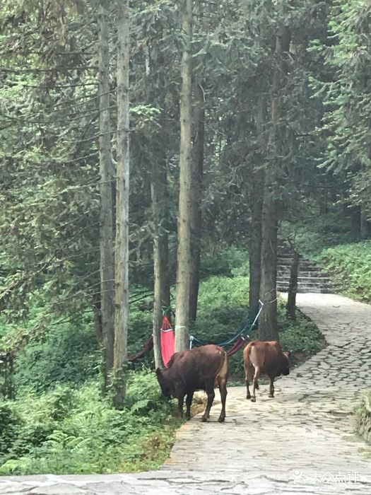
{"label": "bright green bushes at right edge beside the stone steps", "polygon": [[371,302],[370,240],[325,249],[318,255],[318,260],[346,296]]}

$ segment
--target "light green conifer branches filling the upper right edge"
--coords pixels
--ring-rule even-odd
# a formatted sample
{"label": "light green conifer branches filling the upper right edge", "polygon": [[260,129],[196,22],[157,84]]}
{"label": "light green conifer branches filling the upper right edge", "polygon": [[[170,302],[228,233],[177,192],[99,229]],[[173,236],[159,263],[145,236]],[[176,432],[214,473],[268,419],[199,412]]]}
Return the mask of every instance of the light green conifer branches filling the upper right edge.
{"label": "light green conifer branches filling the upper right edge", "polygon": [[335,0],[329,18],[329,40],[322,46],[326,73],[322,90],[326,115],[326,170],[341,178],[346,204],[370,216],[371,161],[371,6],[368,0]]}

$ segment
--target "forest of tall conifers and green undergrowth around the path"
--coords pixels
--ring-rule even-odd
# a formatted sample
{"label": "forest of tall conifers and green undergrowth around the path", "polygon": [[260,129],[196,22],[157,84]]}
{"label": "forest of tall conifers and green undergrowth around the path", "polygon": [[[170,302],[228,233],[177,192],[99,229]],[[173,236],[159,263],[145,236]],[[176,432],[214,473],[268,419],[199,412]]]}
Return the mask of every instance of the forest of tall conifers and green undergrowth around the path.
{"label": "forest of tall conifers and green undergrowth around the path", "polygon": [[369,0],[1,2],[0,474],[161,465],[163,314],[181,351],[261,301],[250,337],[321,349],[284,243],[371,301],[370,33]]}

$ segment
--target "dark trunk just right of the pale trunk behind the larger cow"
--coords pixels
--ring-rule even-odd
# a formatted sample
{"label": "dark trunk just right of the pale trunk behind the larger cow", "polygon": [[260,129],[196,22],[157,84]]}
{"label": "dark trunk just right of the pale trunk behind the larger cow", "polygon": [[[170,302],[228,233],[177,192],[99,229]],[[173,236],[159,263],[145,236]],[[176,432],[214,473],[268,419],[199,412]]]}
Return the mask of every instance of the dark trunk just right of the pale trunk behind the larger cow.
{"label": "dark trunk just right of the pale trunk behind the larger cow", "polygon": [[192,202],[191,202],[191,293],[189,318],[196,320],[199,297],[201,257],[201,199],[204,175],[205,97],[202,86],[194,84],[193,147],[192,147]]}

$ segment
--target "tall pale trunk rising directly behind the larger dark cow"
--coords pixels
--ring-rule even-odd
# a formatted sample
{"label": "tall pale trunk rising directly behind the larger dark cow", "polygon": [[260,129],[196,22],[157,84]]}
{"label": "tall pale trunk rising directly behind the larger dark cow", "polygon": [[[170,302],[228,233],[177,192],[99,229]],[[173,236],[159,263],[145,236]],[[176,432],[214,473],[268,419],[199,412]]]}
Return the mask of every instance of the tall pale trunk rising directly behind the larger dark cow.
{"label": "tall pale trunk rising directly behind the larger dark cow", "polygon": [[192,0],[182,0],[182,91],[180,95],[179,213],[175,350],[189,346],[192,161]]}

